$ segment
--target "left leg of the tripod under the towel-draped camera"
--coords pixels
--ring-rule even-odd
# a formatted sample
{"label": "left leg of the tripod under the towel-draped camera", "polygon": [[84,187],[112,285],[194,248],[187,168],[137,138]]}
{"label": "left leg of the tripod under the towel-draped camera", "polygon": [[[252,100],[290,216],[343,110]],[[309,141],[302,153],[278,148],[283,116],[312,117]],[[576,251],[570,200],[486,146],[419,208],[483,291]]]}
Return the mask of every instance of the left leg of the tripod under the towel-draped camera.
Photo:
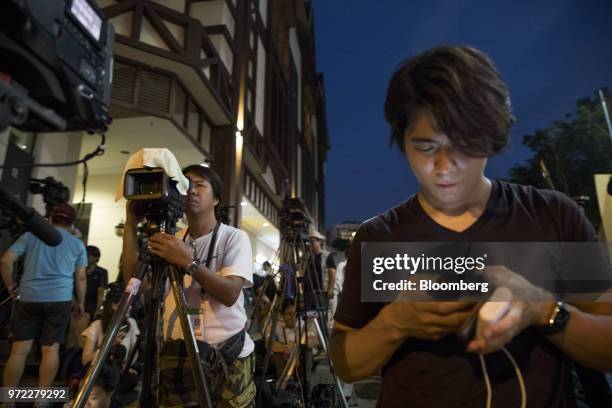
{"label": "left leg of the tripod under the towel-draped camera", "polygon": [[[142,278],[144,275],[144,270],[146,269],[146,265],[142,265],[142,271],[139,270],[138,277]],[[142,274],[140,273],[142,272]],[[100,346],[100,350],[96,353],[89,370],[87,370],[87,374],[83,378],[81,383],[81,388],[77,393],[76,399],[74,401],[73,407],[75,408],[83,408],[87,403],[87,398],[89,397],[89,393],[93,388],[95,380],[98,378],[100,371],[102,370],[102,364],[106,361],[106,357],[110,352],[113,341],[119,333],[119,325],[125,320],[125,317],[128,314],[130,306],[134,303],[134,299],[138,294],[138,290],[140,289],[141,280],[137,278],[130,279],[128,286],[125,288],[125,292],[123,292],[123,296],[121,297],[121,301],[119,302],[119,307],[111,320],[106,333],[104,333],[104,339],[102,340],[102,345]],[[144,388],[143,388],[144,389]]]}

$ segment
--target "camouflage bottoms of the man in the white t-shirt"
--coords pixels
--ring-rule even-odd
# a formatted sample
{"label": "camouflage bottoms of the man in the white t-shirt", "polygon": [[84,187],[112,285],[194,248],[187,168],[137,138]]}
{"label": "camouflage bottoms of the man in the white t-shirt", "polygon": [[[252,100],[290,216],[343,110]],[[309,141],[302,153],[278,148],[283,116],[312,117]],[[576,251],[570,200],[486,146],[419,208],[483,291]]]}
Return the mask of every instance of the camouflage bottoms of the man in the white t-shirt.
{"label": "camouflage bottoms of the man in the white t-shirt", "polygon": [[[237,358],[228,368],[227,381],[218,393],[211,396],[213,406],[219,408],[254,408],[255,407],[255,382],[253,381],[255,353],[244,358]],[[187,375],[188,374],[188,375]],[[191,372],[183,371],[183,385],[192,383]],[[162,385],[162,389],[165,387]],[[171,387],[173,388],[173,387]],[[165,389],[162,391],[160,406],[162,407],[197,407],[198,393],[195,387],[189,387],[188,391],[180,395],[173,394]],[[210,388],[210,387],[209,387]]]}

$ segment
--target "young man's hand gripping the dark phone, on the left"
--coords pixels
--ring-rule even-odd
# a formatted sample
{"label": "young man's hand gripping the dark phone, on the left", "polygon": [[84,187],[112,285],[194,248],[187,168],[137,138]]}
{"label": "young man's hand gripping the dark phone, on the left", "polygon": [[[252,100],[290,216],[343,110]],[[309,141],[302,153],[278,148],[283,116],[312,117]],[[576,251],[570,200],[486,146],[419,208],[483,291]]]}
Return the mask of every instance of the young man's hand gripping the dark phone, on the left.
{"label": "young man's hand gripping the dark phone, on the left", "polygon": [[402,338],[439,340],[456,333],[473,306],[474,302],[393,302],[383,313]]}

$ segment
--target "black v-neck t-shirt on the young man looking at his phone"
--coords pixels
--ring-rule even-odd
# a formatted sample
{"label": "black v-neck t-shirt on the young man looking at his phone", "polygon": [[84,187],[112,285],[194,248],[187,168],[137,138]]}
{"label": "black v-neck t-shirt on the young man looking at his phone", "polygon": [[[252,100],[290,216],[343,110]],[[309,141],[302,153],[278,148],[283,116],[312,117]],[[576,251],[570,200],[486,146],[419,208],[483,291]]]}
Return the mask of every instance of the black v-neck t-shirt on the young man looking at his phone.
{"label": "black v-neck t-shirt on the young man looking at his phone", "polygon": [[[484,213],[468,229],[455,232],[437,224],[416,196],[365,222],[350,248],[344,288],[334,319],[352,328],[372,320],[385,304],[362,303],[361,242],[587,242],[595,231],[565,195],[505,182],[492,183]],[[454,336],[440,341],[408,339],[383,370],[379,407],[483,407],[486,388],[477,355]],[[570,363],[552,343],[523,331],[506,347],[517,360],[528,406],[573,407]],[[401,355],[401,357],[400,357]],[[493,387],[492,406],[520,406],[511,363],[501,352],[486,356]]]}

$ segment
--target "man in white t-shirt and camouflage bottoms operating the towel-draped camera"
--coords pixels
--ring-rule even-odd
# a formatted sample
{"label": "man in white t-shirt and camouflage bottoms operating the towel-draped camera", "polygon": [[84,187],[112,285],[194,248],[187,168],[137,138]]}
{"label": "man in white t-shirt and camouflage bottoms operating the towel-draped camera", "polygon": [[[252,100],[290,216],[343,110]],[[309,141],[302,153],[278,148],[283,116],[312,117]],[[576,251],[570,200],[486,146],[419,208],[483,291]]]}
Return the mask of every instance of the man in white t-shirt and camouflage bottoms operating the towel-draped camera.
{"label": "man in white t-shirt and camouflage bottoms operating the towel-draped camera", "polygon": [[[251,244],[244,231],[217,221],[215,210],[222,194],[220,177],[200,165],[188,166],[183,173],[191,181],[185,202],[189,228],[176,236],[153,235],[148,241],[148,251],[185,272],[183,284],[189,318],[202,360],[206,360],[202,363],[213,405],[251,407],[255,397],[254,343],[245,331],[247,317],[242,294],[243,288],[252,286]],[[141,216],[128,203],[123,238],[126,280],[133,275],[137,264],[136,227]],[[209,252],[211,241],[215,244]],[[206,266],[207,260],[209,266]],[[163,331],[160,404],[199,406],[170,291],[164,298]]]}

